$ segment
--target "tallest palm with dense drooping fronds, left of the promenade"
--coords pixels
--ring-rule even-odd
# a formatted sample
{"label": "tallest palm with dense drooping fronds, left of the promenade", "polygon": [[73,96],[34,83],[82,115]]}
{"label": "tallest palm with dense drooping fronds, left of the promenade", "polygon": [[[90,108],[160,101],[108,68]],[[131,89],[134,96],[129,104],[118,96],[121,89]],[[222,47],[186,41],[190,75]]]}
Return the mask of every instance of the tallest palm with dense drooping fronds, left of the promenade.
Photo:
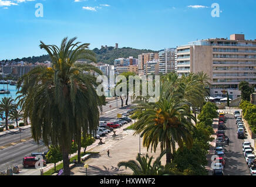
{"label": "tallest palm with dense drooping fronds, left of the promenade", "polygon": [[[99,108],[104,101],[97,96],[99,85],[90,72],[102,72],[79,60],[96,61],[89,43],[75,42],[76,37],[62,40],[60,47],[46,45],[52,68],[36,67],[18,81],[18,93],[24,118],[31,119],[32,137],[46,146],[60,146],[65,175],[70,175],[69,153],[73,138],[99,125]],[[87,73],[85,73],[87,72]],[[93,127],[93,129],[92,129]],[[77,140],[78,142],[80,140]]]}

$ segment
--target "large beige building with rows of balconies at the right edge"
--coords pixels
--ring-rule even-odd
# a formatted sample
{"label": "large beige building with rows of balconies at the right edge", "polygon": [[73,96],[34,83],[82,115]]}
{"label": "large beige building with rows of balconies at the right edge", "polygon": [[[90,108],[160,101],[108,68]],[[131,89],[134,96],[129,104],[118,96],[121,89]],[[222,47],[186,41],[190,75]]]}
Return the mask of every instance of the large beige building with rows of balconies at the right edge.
{"label": "large beige building with rows of balconies at the right edge", "polygon": [[228,39],[206,39],[177,48],[177,74],[205,72],[210,77],[210,95],[237,98],[238,85],[256,84],[256,40],[245,40],[244,34]]}

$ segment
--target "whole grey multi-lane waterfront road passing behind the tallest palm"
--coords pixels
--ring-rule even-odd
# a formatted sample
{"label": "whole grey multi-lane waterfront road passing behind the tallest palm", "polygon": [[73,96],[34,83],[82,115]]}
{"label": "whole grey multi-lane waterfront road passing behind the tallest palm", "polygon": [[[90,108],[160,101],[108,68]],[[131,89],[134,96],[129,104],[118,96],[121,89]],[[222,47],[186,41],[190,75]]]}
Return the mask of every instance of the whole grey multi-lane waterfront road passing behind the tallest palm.
{"label": "whole grey multi-lane waterfront road passing behind the tallest palm", "polygon": [[[122,108],[122,109],[112,109],[111,111],[106,111],[105,115],[100,116],[100,120],[106,121],[106,122],[110,122],[114,119],[117,118],[117,114],[118,113],[123,113],[127,111],[127,108]],[[28,130],[30,133],[30,130]],[[26,136],[31,136],[29,135],[29,133],[27,131],[23,132],[23,137]],[[15,137],[16,136],[16,137]],[[5,140],[10,141],[11,138],[18,138],[19,140],[19,134],[11,134],[9,136],[2,136],[0,138],[0,141]],[[6,144],[6,143],[3,143]],[[22,159],[24,156],[29,155],[31,153],[35,153],[35,152],[43,152],[43,151],[47,151],[47,147],[45,147],[43,145],[43,143],[41,142],[38,146],[37,143],[35,143],[35,141],[31,140],[31,141],[26,141],[25,143],[20,143],[20,144],[16,144],[15,146],[12,147],[8,147],[5,148],[3,150],[0,150],[0,171],[2,170],[6,170],[6,167],[8,167],[8,165],[16,165],[18,164],[19,167],[21,167],[22,164]]]}

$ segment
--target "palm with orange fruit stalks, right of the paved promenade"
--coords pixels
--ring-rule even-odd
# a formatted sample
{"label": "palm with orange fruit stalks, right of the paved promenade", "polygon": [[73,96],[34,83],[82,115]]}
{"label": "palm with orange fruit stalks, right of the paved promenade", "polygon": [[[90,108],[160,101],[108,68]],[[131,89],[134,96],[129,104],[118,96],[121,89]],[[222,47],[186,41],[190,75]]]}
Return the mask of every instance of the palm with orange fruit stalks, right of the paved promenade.
{"label": "palm with orange fruit stalks, right of the paved promenade", "polygon": [[196,120],[190,113],[190,103],[181,99],[182,94],[176,92],[171,84],[160,85],[160,100],[156,103],[136,101],[134,124],[136,132],[143,137],[143,146],[156,152],[160,143],[161,151],[166,150],[166,162],[171,163],[176,143],[183,147],[192,145],[191,131],[194,126],[191,119]]}

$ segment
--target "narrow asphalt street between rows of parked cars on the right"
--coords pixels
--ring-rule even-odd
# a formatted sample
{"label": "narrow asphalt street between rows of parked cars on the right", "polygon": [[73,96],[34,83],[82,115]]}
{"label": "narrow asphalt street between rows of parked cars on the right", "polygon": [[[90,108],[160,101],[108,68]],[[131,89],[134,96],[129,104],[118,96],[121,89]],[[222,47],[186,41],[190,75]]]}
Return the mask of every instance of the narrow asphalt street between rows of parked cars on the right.
{"label": "narrow asphalt street between rows of parked cars on the right", "polygon": [[230,139],[229,146],[226,146],[225,155],[227,157],[224,174],[225,175],[250,175],[249,168],[245,162],[242,152],[244,140],[237,138],[237,126],[234,115],[226,115],[227,123],[226,136]]}

